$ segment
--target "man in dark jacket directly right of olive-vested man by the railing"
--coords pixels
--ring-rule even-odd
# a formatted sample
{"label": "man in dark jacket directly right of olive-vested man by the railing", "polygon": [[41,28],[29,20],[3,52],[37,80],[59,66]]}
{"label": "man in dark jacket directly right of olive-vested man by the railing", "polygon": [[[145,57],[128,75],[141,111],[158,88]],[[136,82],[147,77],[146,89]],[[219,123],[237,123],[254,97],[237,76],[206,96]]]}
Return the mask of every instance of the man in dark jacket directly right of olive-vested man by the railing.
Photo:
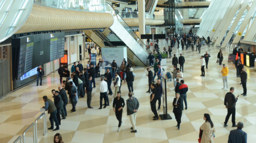
{"label": "man in dark jacket directly right of olive-vested man by the railing", "polygon": [[62,98],[61,96],[59,95],[59,91],[55,91],[55,97],[54,97],[54,104],[55,104],[55,107],[57,108],[57,119],[58,119],[58,122],[59,122],[59,125],[60,125],[60,112],[62,114],[62,118],[66,119],[65,117],[65,112],[63,110],[63,101],[62,101]]}

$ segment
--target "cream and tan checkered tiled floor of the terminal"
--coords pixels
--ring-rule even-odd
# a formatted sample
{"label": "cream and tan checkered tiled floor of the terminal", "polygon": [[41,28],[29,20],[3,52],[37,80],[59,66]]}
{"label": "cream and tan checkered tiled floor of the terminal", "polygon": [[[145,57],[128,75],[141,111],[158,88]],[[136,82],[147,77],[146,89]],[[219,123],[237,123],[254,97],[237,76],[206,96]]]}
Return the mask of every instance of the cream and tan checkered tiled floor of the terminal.
{"label": "cream and tan checkered tiled floor of the terminal", "polygon": [[[164,41],[161,43],[165,43]],[[164,45],[166,46],[166,45]],[[163,49],[163,45],[160,45]],[[167,47],[167,46],[166,46]],[[211,55],[209,60],[209,69],[206,69],[206,77],[200,77],[200,56],[205,51]],[[209,113],[216,127],[216,137],[214,142],[227,142],[232,123],[229,121],[229,127],[224,128],[223,122],[227,109],[223,105],[225,93],[221,90],[223,87],[221,79],[221,68],[216,63],[217,52],[215,47],[203,46],[201,54],[196,51],[173,48],[173,54],[183,53],[186,59],[184,64],[184,80],[188,85],[187,100],[188,110],[183,111],[181,119],[181,130],[177,130],[175,119],[153,121],[153,113],[150,109],[150,94],[148,90],[148,80],[146,67],[135,67],[136,74],[134,82],[135,97],[140,102],[140,108],[137,113],[138,133],[130,133],[131,123],[126,115],[126,106],[123,113],[123,126],[121,132],[116,132],[118,121],[111,106],[106,109],[99,108],[99,78],[96,79],[96,89],[92,93],[92,106],[94,109],[87,109],[86,98],[80,98],[77,104],[77,112],[70,113],[66,120],[62,120],[60,130],[53,132],[48,130],[47,136],[43,136],[43,123],[38,123],[38,141],[39,143],[52,143],[55,133],[61,133],[65,143],[197,143],[199,127],[203,124],[203,114]],[[236,78],[236,70],[232,63],[227,63],[228,52],[223,50],[223,63],[229,67],[229,87],[235,87],[235,95],[243,92],[239,84],[240,78]],[[85,63],[83,61],[83,63]],[[121,63],[121,61],[117,61]],[[152,68],[151,68],[152,69]],[[167,66],[164,66],[165,72],[173,71],[171,59],[167,59]],[[152,69],[153,70],[153,69]],[[248,73],[246,97],[240,96],[236,105],[236,122],[244,123],[244,131],[247,132],[248,143],[256,141],[256,72],[246,67]],[[40,107],[44,105],[42,97],[47,95],[52,99],[52,89],[58,89],[58,73],[52,73],[43,79],[43,86],[36,86],[36,83],[29,84],[22,89],[13,92],[0,101],[0,140],[1,143],[12,143],[24,130],[41,114]],[[172,113],[172,101],[174,98],[173,82],[167,82],[167,100],[168,113],[174,118]],[[128,99],[127,84],[122,83],[122,97]],[[111,101],[112,97],[109,96]],[[70,111],[71,104],[67,105]],[[160,114],[163,110],[160,110]],[[49,115],[48,115],[49,117]],[[47,118],[48,118],[47,117]],[[231,118],[230,118],[231,119]],[[47,119],[47,125],[50,122]],[[26,141],[32,142],[33,134],[30,130],[26,134]]]}

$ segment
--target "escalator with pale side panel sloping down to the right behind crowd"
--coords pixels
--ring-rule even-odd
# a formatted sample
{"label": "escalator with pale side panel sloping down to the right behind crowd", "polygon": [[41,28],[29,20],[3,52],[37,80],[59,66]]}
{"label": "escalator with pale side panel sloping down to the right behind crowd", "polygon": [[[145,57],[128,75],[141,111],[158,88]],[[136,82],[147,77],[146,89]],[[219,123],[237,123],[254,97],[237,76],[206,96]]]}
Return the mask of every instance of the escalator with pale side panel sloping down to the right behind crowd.
{"label": "escalator with pale side panel sloping down to the right behind crowd", "polygon": [[84,30],[88,36],[99,47],[127,47],[128,60],[135,66],[148,66],[148,53],[146,45],[125,23],[111,5],[106,3],[106,11],[114,17],[111,27],[97,30]]}

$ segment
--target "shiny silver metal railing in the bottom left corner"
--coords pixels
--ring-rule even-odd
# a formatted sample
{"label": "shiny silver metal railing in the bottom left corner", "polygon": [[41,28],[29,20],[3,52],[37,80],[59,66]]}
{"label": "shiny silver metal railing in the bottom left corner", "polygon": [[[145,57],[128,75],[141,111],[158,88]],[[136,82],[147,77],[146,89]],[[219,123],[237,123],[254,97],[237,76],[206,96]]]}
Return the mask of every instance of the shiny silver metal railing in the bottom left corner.
{"label": "shiny silver metal railing in the bottom left corner", "polygon": [[42,118],[43,118],[43,135],[46,136],[47,134],[46,112],[47,111],[45,110],[44,113],[40,114],[40,116],[35,120],[35,123],[30,124],[30,126],[23,132],[22,136],[19,136],[13,143],[17,143],[18,141],[20,141],[20,143],[25,143],[25,134],[31,127],[34,127],[33,138],[34,138],[34,143],[37,143],[37,121]]}

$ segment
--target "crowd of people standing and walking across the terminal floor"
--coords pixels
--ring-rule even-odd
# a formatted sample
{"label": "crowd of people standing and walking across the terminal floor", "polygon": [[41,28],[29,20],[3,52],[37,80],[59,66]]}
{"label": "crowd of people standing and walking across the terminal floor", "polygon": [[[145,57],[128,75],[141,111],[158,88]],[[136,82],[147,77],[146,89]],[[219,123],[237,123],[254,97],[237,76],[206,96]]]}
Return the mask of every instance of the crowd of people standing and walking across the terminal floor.
{"label": "crowd of people standing and walking across the terminal floor", "polygon": [[[172,48],[175,47],[175,43],[177,42],[177,47],[179,47],[179,44],[184,48],[184,44],[186,41],[186,50],[188,47],[191,46],[192,51],[194,51],[193,44],[196,44],[196,47],[199,50],[201,49],[200,45],[200,39],[197,36],[187,36],[183,35],[181,38],[181,42],[178,42],[180,39],[180,35],[174,36],[174,38],[171,38],[171,46],[168,46],[168,50],[164,47],[164,52],[169,53],[169,56],[171,58],[171,51]],[[175,41],[175,42],[174,42]],[[188,42],[191,41],[191,42]],[[198,44],[197,44],[198,42]],[[167,40],[168,43],[168,40]],[[197,51],[197,49],[196,49]],[[150,63],[150,67],[154,67],[154,74],[151,71],[150,67],[147,68],[147,76],[148,76],[148,90],[147,93],[150,93],[150,106],[151,111],[153,112],[153,120],[158,120],[159,116],[157,113],[157,110],[161,109],[161,98],[164,95],[163,92],[163,76],[164,76],[164,69],[161,66],[161,53],[160,48],[158,46],[158,43],[155,43],[155,54],[157,54],[157,57],[154,56],[153,53],[150,53],[148,56],[148,60]],[[172,64],[173,64],[173,71],[171,72],[173,74],[173,85],[174,85],[174,91],[175,91],[175,98],[173,100],[173,113],[175,116],[175,119],[177,121],[177,129],[181,129],[181,116],[183,113],[183,110],[188,110],[188,104],[187,104],[187,92],[188,92],[188,86],[185,84],[186,78],[184,78],[184,63],[185,58],[180,53],[179,57],[176,57],[176,55],[173,55],[172,58]],[[209,57],[210,54],[206,51],[204,55],[200,57],[200,65],[201,65],[201,75],[202,77],[205,76],[205,70],[204,66],[206,66],[206,69],[208,69],[208,63],[209,63]],[[229,135],[229,142],[233,142],[235,138],[246,140],[247,134],[242,131],[243,123],[239,122],[236,124],[235,122],[235,114],[236,114],[236,102],[238,100],[238,96],[234,96],[234,87],[231,87],[229,89],[228,84],[228,73],[229,69],[225,66],[225,64],[222,64],[223,60],[223,54],[222,51],[217,55],[219,64],[223,66],[220,73],[222,74],[223,79],[223,90],[229,90],[228,93],[226,93],[224,97],[224,105],[227,108],[227,116],[224,122],[224,127],[227,127],[227,122],[229,120],[229,117],[232,114],[232,127],[237,127],[236,130],[232,130]],[[155,60],[156,59],[156,60]],[[155,61],[155,63],[154,63]],[[246,89],[246,80],[247,80],[247,73],[244,70],[243,64],[240,59],[234,60],[234,64],[236,66],[237,70],[237,77],[241,78],[241,83],[243,86],[243,96],[246,96],[247,89]],[[180,68],[177,66],[180,65]],[[104,59],[99,59],[99,62],[97,65],[93,65],[91,61],[88,61],[88,64],[86,68],[83,67],[83,65],[78,62],[76,65],[76,62],[73,63],[71,67],[71,72],[69,72],[68,67],[63,67],[63,65],[60,66],[58,73],[60,76],[60,86],[58,90],[52,90],[52,94],[54,97],[54,102],[52,100],[48,99],[47,96],[43,97],[43,100],[45,102],[44,109],[48,110],[48,113],[50,114],[50,123],[51,126],[48,129],[53,130],[59,130],[59,125],[61,125],[61,120],[66,119],[67,116],[67,110],[66,105],[68,102],[72,104],[72,110],[71,113],[76,112],[76,104],[79,100],[79,97],[87,97],[87,105],[88,109],[93,109],[91,106],[91,100],[92,100],[92,89],[96,88],[95,84],[95,77],[100,77],[101,82],[99,83],[99,92],[100,92],[100,103],[99,103],[99,109],[106,108],[106,106],[110,106],[109,103],[109,96],[112,96],[112,107],[116,115],[116,119],[118,120],[118,129],[117,132],[121,130],[122,126],[122,112],[125,105],[127,106],[127,116],[129,116],[131,120],[131,132],[136,133],[137,128],[135,126],[136,124],[136,116],[137,112],[140,106],[140,103],[136,97],[134,97],[134,89],[133,89],[133,82],[135,78],[135,73],[133,72],[133,69],[128,61],[125,59],[122,61],[120,66],[117,66],[116,61],[114,60],[112,62],[112,72],[110,69],[106,69],[106,72],[104,74],[101,74],[101,70],[105,70],[106,63]],[[40,73],[40,76],[43,76],[43,69],[42,67],[38,67],[37,71]],[[70,74],[71,73],[71,74]],[[155,83],[154,79],[157,76],[157,83]],[[66,78],[66,79],[65,79]],[[128,96],[129,98],[125,100],[121,97],[121,86],[122,86],[122,80],[124,80],[124,83],[127,82],[128,86]],[[113,83],[112,83],[113,82]],[[38,82],[37,82],[38,85]],[[42,85],[42,82],[40,83]],[[114,92],[112,92],[112,85],[114,85]],[[67,96],[66,91],[69,96]],[[104,104],[102,103],[104,100]],[[158,106],[157,106],[158,102]],[[185,105],[183,104],[185,103]],[[60,115],[62,118],[60,118]],[[205,123],[200,126],[200,136],[199,139],[201,140],[201,143],[213,143],[214,138],[214,132],[216,131],[214,127],[214,123],[211,121],[210,114],[205,113],[203,116],[203,119],[205,120]],[[54,122],[56,128],[54,129]],[[240,134],[239,136],[236,136],[236,134]],[[62,137],[60,134],[56,134],[54,137],[54,142],[62,142]]]}

